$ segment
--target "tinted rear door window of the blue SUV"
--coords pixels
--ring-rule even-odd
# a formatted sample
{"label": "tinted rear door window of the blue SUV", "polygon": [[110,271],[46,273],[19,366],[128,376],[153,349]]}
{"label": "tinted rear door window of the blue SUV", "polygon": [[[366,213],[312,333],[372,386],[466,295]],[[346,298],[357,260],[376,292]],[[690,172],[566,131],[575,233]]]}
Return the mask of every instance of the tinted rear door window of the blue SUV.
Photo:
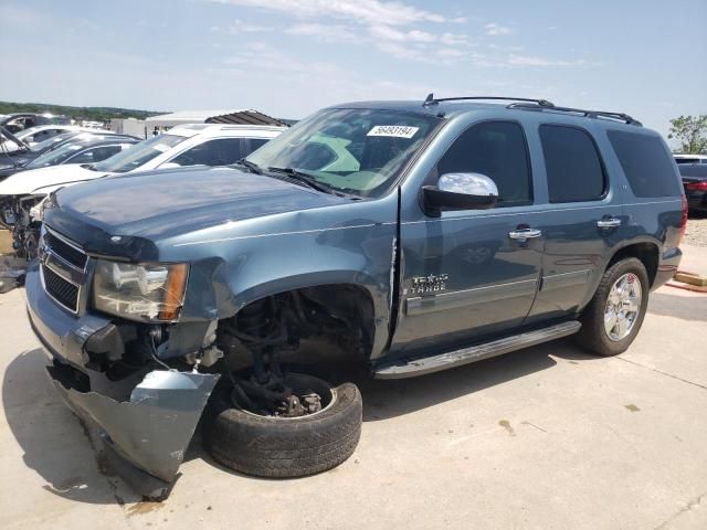
{"label": "tinted rear door window of the blue SUV", "polygon": [[541,125],[540,142],[550,202],[598,201],[606,187],[594,140],[585,130]]}

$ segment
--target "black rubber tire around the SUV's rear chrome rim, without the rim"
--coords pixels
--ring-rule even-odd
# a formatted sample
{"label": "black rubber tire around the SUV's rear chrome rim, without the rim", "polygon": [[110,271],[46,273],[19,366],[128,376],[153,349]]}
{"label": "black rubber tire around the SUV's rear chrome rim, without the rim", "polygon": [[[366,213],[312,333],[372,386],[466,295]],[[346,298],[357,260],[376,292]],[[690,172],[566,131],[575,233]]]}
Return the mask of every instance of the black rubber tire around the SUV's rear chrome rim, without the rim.
{"label": "black rubber tire around the SUV's rear chrome rim, without the rim", "polygon": [[[641,305],[639,315],[636,316],[631,332],[626,337],[621,340],[612,340],[609,338],[609,335],[604,329],[604,309],[606,307],[606,299],[614,283],[627,273],[635,274],[641,282]],[[626,351],[643,325],[643,318],[645,317],[645,310],[648,305],[650,290],[648,273],[640,259],[630,257],[614,263],[606,269],[606,272],[604,272],[594,296],[580,317],[582,328],[576,336],[579,344],[592,353],[605,357],[616,356]]]}

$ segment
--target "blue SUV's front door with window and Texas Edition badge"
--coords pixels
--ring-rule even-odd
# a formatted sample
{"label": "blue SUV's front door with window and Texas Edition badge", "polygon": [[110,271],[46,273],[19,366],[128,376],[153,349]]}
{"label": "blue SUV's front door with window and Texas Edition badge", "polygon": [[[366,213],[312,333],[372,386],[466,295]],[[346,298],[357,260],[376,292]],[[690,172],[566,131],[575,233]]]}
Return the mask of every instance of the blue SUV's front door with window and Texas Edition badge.
{"label": "blue SUV's front door with window and Texas Edition badge", "polygon": [[[475,172],[498,188],[490,210],[446,211],[407,222],[402,213],[401,305],[392,351],[464,344],[509,335],[536,295],[542,234],[534,230],[532,177],[523,127],[484,121],[467,128],[428,178]],[[419,219],[419,218],[418,218]],[[526,234],[527,237],[518,237]]]}

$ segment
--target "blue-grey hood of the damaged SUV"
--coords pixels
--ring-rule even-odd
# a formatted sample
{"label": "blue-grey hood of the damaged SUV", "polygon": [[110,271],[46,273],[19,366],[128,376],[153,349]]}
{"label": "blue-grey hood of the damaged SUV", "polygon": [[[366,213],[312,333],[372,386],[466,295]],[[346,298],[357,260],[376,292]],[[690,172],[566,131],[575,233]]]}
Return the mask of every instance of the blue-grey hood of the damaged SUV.
{"label": "blue-grey hood of the damaged SUV", "polygon": [[194,167],[86,182],[59,190],[53,202],[76,224],[156,241],[348,199],[235,168]]}

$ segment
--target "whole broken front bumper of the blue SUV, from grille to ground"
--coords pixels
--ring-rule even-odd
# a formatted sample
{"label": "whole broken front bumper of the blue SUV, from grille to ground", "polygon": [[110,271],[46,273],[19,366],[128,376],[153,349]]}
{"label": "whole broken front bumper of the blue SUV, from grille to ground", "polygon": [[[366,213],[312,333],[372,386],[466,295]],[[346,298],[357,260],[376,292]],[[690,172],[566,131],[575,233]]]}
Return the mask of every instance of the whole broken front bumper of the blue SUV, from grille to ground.
{"label": "whole broken front bumper of the blue SUV, from grille to ground", "polygon": [[[85,368],[85,346],[109,320],[73,317],[44,293],[39,273],[27,277],[28,314],[32,329],[53,359],[50,379],[62,399],[97,433],[109,467],[146,498],[169,495],[184,452],[219,374],[154,370],[141,381],[110,383]],[[94,439],[95,442],[95,439]]]}

